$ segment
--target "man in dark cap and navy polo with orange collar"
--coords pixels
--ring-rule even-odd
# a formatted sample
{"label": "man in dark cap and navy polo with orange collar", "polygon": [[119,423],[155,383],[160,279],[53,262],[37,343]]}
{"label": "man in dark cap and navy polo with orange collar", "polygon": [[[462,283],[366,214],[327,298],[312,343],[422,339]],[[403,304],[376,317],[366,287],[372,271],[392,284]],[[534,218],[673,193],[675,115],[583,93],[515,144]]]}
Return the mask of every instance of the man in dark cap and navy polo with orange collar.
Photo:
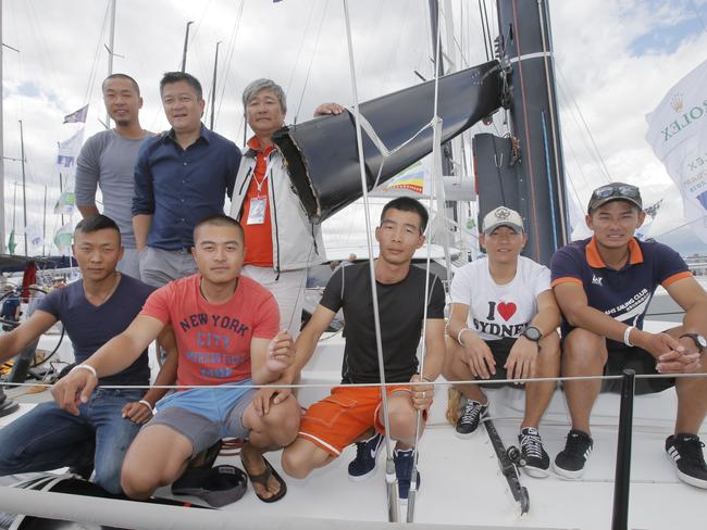
{"label": "man in dark cap and navy polo with orange collar", "polygon": [[[619,374],[686,374],[707,371],[707,293],[680,255],[656,241],[634,237],[645,219],[638,188],[613,182],[592,193],[586,216],[594,236],[558,250],[551,277],[563,314],[562,376]],[[685,311],[681,326],[661,333],[643,330],[643,319],[661,285]],[[675,386],[678,419],[666,451],[678,477],[707,489],[707,465],[697,436],[707,414],[707,379],[640,379],[636,393]],[[594,442],[592,406],[599,380],[566,381],[572,430],[555,458],[561,477],[579,479]]]}

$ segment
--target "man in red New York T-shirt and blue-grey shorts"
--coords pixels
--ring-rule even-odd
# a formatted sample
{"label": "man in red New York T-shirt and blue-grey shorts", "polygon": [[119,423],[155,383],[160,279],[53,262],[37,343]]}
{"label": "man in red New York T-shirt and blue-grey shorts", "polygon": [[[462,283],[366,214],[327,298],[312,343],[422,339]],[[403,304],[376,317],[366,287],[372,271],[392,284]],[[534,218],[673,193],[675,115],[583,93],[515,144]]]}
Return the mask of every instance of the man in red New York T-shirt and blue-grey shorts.
{"label": "man in red New York T-shirt and blue-grey shorts", "polygon": [[[194,229],[199,273],[154,291],[142,312],[54,389],[62,408],[76,413],[98,377],[128,366],[165,326],[177,342],[179,389],[156,405],[157,414],[131,445],[121,482],[133,499],[182,476],[199,452],[225,437],[248,438],[241,460],[256,494],[281,499],[286,487],[262,456],[289,444],[299,428],[299,405],[290,394],[256,391],[252,384],[281,379],[294,361],[294,344],[277,332],[273,295],[240,276],[244,234],[236,220],[213,215]],[[227,388],[218,388],[225,384]],[[207,388],[199,388],[207,387]]]}

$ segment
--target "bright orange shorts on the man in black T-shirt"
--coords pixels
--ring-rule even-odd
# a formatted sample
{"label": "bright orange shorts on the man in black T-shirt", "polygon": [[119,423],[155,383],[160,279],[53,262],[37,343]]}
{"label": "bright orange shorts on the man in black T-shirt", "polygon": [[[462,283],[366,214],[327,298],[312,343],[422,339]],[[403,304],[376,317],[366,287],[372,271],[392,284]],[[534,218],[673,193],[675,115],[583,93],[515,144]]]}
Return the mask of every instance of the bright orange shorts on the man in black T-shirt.
{"label": "bright orange shorts on the man in black T-shirt", "polygon": [[[408,384],[387,387],[388,395],[410,391]],[[344,447],[371,427],[377,432],[385,432],[383,424],[379,421],[380,408],[380,387],[335,387],[327,398],[307,409],[297,436],[332,456],[338,456]],[[426,414],[423,417],[426,419]]]}

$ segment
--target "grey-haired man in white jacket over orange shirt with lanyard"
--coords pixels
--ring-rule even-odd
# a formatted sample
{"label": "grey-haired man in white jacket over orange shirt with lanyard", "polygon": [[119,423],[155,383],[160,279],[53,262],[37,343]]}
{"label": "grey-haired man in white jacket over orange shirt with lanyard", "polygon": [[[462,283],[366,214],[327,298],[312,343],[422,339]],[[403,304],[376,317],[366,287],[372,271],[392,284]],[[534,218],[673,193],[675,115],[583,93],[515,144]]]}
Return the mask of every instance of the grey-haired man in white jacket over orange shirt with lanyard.
{"label": "grey-haired man in white jacket over orange shirt with lanyard", "polygon": [[[244,90],[243,105],[255,132],[243,153],[231,206],[231,216],[240,222],[248,241],[243,274],[272,291],[280,306],[281,329],[296,338],[307,267],[325,260],[321,226],[307,218],[272,141],[287,112],[282,87],[256,79]],[[338,114],[342,109],[322,104],[314,114]]]}

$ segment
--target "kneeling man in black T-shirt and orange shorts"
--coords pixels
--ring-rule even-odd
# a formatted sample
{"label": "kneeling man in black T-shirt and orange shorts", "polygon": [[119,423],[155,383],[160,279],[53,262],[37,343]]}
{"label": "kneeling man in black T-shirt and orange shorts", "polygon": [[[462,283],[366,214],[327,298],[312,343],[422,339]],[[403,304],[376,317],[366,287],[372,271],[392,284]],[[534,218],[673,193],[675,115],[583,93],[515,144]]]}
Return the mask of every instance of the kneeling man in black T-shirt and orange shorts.
{"label": "kneeling man in black T-shirt and orange shorts", "polygon": [[[408,382],[434,381],[444,363],[444,289],[439,278],[412,267],[414,251],[424,243],[426,210],[414,199],[398,198],[387,203],[375,229],[380,255],[374,263],[381,343],[388,395],[389,436],[397,440],[394,457],[401,500],[407,500],[412,476],[412,443],[417,411],[432,404],[432,386]],[[425,289],[427,287],[427,289]],[[312,356],[321,335],[336,312],[343,308],[346,346],[342,383],[371,383],[372,387],[337,387],[313,404],[302,418],[297,440],[283,453],[283,468],[303,479],[323,467],[355,441],[357,457],[349,464],[349,477],[361,480],[375,470],[375,457],[383,442],[383,411],[376,346],[373,299],[368,262],[339,268],[296,343],[297,375]],[[425,318],[424,373],[418,373],[415,355]],[[292,377],[294,380],[294,377]],[[360,441],[370,433],[371,438]],[[418,479],[419,481],[419,479]]]}

